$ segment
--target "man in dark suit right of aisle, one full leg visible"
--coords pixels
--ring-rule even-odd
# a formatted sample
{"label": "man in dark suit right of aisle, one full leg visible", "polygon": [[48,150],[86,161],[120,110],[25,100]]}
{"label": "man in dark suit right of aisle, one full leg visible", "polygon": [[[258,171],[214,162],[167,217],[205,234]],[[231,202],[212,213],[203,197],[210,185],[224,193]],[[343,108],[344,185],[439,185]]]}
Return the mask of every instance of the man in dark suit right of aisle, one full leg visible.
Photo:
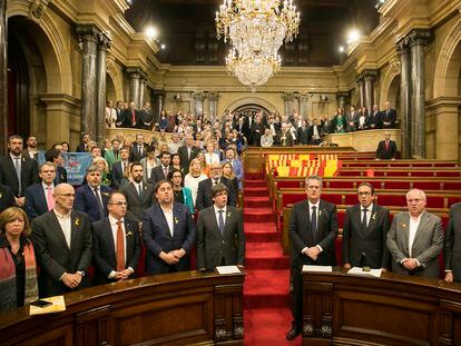
{"label": "man in dark suit right of aisle, one full leg visible", "polygon": [[292,245],[293,323],[286,335],[293,340],[303,328],[303,265],[335,266],[334,241],[337,236],[336,206],[321,199],[322,178],[305,181],[307,199],[293,206],[288,234]]}

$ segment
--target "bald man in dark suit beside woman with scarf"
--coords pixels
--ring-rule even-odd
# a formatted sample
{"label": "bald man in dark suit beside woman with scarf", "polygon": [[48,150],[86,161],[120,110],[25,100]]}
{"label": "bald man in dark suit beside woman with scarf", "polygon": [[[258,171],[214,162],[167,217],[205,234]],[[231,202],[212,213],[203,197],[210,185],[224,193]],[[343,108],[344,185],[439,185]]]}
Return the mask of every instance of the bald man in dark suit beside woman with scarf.
{"label": "bald man in dark suit beside woman with scarf", "polygon": [[62,295],[89,286],[91,229],[88,216],[72,210],[71,185],[55,188],[55,208],[32,221],[32,243],[40,265],[40,297]]}

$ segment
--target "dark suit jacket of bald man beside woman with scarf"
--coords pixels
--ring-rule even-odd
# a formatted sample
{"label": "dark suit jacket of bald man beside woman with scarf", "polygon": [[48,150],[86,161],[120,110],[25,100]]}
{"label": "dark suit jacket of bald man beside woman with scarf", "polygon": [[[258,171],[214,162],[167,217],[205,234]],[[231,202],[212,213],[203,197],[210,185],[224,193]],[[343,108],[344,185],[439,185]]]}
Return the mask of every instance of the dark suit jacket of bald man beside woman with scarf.
{"label": "dark suit jacket of bald man beside woman with scarf", "polygon": [[32,220],[32,243],[37,263],[40,265],[40,297],[71,291],[60,277],[65,273],[84,271],[78,288],[89,286],[88,267],[91,264],[91,229],[88,216],[72,210],[70,214],[70,249],[55,212],[48,211]]}

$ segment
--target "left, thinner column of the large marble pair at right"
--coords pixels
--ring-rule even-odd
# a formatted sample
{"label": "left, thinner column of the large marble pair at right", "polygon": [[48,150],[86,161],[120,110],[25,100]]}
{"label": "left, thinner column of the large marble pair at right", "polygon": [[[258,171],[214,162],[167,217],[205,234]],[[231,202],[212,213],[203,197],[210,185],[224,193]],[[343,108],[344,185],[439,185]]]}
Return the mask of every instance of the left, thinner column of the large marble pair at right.
{"label": "left, thinner column of the large marble pair at right", "polygon": [[401,39],[396,43],[396,51],[400,56],[400,129],[401,139],[401,157],[403,159],[411,158],[411,69],[410,69],[410,47],[408,38]]}

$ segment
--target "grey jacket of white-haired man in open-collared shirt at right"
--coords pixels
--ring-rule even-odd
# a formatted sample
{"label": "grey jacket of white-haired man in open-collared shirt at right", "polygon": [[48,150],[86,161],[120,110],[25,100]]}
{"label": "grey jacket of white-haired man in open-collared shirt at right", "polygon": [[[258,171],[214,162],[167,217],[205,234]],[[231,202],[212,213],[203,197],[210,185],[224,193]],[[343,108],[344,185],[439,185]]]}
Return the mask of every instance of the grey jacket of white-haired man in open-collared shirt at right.
{"label": "grey jacket of white-haired man in open-collared shirt at right", "polygon": [[440,217],[424,211],[414,236],[412,255],[409,253],[410,214],[400,212],[394,216],[391,229],[388,233],[388,248],[391,251],[392,271],[409,275],[410,271],[401,265],[404,258],[415,258],[420,267],[413,269],[415,276],[438,278],[438,256],[443,247],[443,230]]}

